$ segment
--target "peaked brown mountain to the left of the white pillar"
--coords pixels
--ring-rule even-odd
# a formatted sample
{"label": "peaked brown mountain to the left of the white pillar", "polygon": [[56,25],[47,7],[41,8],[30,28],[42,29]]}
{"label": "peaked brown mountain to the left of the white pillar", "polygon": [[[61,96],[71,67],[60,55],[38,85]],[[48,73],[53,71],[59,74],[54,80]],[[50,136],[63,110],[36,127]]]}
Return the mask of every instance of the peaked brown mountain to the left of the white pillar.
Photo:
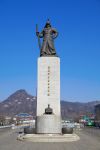
{"label": "peaked brown mountain to the left of the white pillar", "polygon": [[0,103],[0,114],[13,116],[20,112],[35,115],[36,97],[21,89]]}

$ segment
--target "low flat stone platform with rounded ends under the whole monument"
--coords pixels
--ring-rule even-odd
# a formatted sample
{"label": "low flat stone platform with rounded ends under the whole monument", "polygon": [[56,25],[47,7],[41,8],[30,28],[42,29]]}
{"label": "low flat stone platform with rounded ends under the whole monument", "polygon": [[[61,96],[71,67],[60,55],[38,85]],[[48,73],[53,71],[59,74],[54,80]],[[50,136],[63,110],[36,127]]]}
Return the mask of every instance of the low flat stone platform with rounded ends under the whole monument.
{"label": "low flat stone platform with rounded ends under the whole monument", "polygon": [[80,138],[76,134],[26,134],[17,139],[29,142],[74,142]]}

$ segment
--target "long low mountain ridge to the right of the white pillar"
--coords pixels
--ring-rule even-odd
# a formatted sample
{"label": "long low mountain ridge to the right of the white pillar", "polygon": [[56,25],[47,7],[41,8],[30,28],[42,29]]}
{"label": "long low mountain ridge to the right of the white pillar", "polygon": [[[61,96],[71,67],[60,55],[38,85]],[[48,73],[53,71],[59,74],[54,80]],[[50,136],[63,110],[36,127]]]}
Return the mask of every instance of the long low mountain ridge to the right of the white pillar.
{"label": "long low mountain ridge to the right of the white pillar", "polygon": [[63,118],[78,118],[80,115],[90,115],[95,113],[95,105],[100,101],[87,103],[61,101],[61,111]]}

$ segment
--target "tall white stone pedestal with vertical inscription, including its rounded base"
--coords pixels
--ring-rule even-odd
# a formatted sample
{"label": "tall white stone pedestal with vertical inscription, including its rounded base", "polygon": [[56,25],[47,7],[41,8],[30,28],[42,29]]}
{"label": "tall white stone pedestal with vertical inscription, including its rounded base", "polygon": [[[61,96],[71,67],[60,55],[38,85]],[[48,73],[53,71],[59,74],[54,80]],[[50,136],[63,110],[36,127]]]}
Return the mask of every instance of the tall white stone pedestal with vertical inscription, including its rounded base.
{"label": "tall white stone pedestal with vertical inscription, including its rounded base", "polygon": [[[45,114],[50,106],[52,114]],[[36,133],[61,133],[60,58],[38,58]]]}

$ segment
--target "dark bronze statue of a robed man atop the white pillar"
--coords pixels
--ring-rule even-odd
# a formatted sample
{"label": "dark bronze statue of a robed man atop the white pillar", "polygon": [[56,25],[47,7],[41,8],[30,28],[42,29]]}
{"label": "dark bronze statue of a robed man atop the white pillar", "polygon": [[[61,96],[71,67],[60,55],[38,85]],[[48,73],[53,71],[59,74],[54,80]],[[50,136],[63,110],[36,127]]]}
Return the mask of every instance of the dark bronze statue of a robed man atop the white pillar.
{"label": "dark bronze statue of a robed man atop the white pillar", "polygon": [[54,39],[58,36],[56,29],[51,27],[50,21],[46,22],[46,25],[42,32],[36,31],[38,38],[43,38],[42,47],[40,47],[40,56],[57,56],[54,47]]}

